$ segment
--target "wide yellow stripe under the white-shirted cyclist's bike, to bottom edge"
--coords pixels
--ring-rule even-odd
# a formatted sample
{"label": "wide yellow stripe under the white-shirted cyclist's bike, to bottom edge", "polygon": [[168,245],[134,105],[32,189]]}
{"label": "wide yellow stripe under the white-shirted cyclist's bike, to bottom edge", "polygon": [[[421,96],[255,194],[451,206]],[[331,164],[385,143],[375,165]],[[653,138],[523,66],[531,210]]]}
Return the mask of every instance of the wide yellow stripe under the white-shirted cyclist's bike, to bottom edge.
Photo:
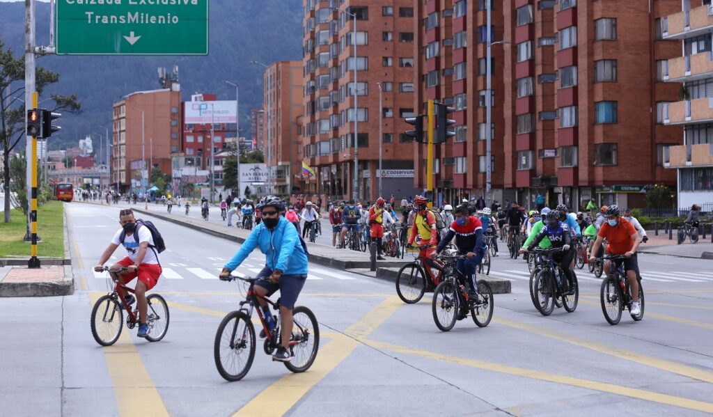
{"label": "wide yellow stripe under the white-shirted cyclist's bike, to bottom edge", "polygon": [[[92,304],[102,292],[91,292]],[[121,416],[168,416],[136,345],[123,329],[116,344],[102,348]]]}

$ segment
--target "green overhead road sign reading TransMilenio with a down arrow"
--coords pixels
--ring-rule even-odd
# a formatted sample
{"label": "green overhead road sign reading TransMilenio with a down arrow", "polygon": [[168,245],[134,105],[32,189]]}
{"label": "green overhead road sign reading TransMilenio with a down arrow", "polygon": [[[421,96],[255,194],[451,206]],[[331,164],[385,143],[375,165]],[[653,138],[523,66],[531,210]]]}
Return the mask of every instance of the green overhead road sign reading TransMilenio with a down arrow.
{"label": "green overhead road sign reading TransMilenio with a down arrow", "polygon": [[56,0],[66,55],[207,55],[209,0]]}

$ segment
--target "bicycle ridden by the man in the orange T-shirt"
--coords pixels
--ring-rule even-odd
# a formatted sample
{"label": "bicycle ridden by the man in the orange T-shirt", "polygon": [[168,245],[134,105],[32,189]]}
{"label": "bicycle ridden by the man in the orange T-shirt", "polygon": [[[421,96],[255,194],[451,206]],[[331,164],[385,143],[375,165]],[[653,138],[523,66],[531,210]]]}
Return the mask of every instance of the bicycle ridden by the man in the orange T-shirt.
{"label": "bicycle ridden by the man in the orange T-shirt", "polygon": [[[600,301],[604,318],[607,319],[609,324],[614,326],[621,320],[622,311],[624,309],[629,309],[631,312],[631,303],[633,302],[630,294],[631,287],[629,279],[624,270],[623,261],[627,259],[627,257],[625,255],[608,255],[605,256],[604,259],[611,261],[615,267],[610,269],[612,272],[602,281]],[[637,281],[639,282],[639,305],[641,312],[637,316],[632,316],[634,321],[640,321],[644,318],[644,287],[642,287],[639,277],[637,277]]]}

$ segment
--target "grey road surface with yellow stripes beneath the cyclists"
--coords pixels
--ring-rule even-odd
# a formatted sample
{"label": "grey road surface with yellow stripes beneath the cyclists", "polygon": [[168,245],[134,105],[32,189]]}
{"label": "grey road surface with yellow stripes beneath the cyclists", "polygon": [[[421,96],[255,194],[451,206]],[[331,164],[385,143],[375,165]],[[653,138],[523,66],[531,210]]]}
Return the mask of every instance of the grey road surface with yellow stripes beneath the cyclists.
{"label": "grey road surface with yellow stripes beneath the cyclists", "polygon": [[[212,343],[242,296],[214,277],[238,245],[155,220],[168,246],[155,287],[170,303],[168,334],[149,343],[125,328],[103,348],[89,316],[106,279],[91,267],[118,229],[118,213],[66,207],[75,294],[0,302],[2,415],[713,413],[712,261],[641,255],[645,318],[625,314],[610,326],[600,280],[586,269],[578,272],[577,311],[544,317],[530,302],[525,263],[497,257],[491,274],[511,279],[513,293],[496,296],[490,326],[468,318],[447,333],[436,329],[428,296],[406,305],[390,282],[315,266],[298,300],[322,331],[312,369],[291,374],[258,346],[245,379],[227,383]],[[243,274],[262,267],[258,253],[246,262]]]}

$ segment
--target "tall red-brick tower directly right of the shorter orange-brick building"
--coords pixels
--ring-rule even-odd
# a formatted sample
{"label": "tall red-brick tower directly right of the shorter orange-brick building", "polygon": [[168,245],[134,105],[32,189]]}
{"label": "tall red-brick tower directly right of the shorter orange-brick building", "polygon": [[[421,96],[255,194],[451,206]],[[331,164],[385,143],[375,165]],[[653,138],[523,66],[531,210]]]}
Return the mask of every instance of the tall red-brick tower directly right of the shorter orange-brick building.
{"label": "tall red-brick tower directly right of the shorter orange-brick building", "polygon": [[302,152],[314,170],[305,191],[373,201],[381,176],[386,197],[413,195],[414,147],[403,133],[415,113],[414,2],[332,4],[303,1]]}

